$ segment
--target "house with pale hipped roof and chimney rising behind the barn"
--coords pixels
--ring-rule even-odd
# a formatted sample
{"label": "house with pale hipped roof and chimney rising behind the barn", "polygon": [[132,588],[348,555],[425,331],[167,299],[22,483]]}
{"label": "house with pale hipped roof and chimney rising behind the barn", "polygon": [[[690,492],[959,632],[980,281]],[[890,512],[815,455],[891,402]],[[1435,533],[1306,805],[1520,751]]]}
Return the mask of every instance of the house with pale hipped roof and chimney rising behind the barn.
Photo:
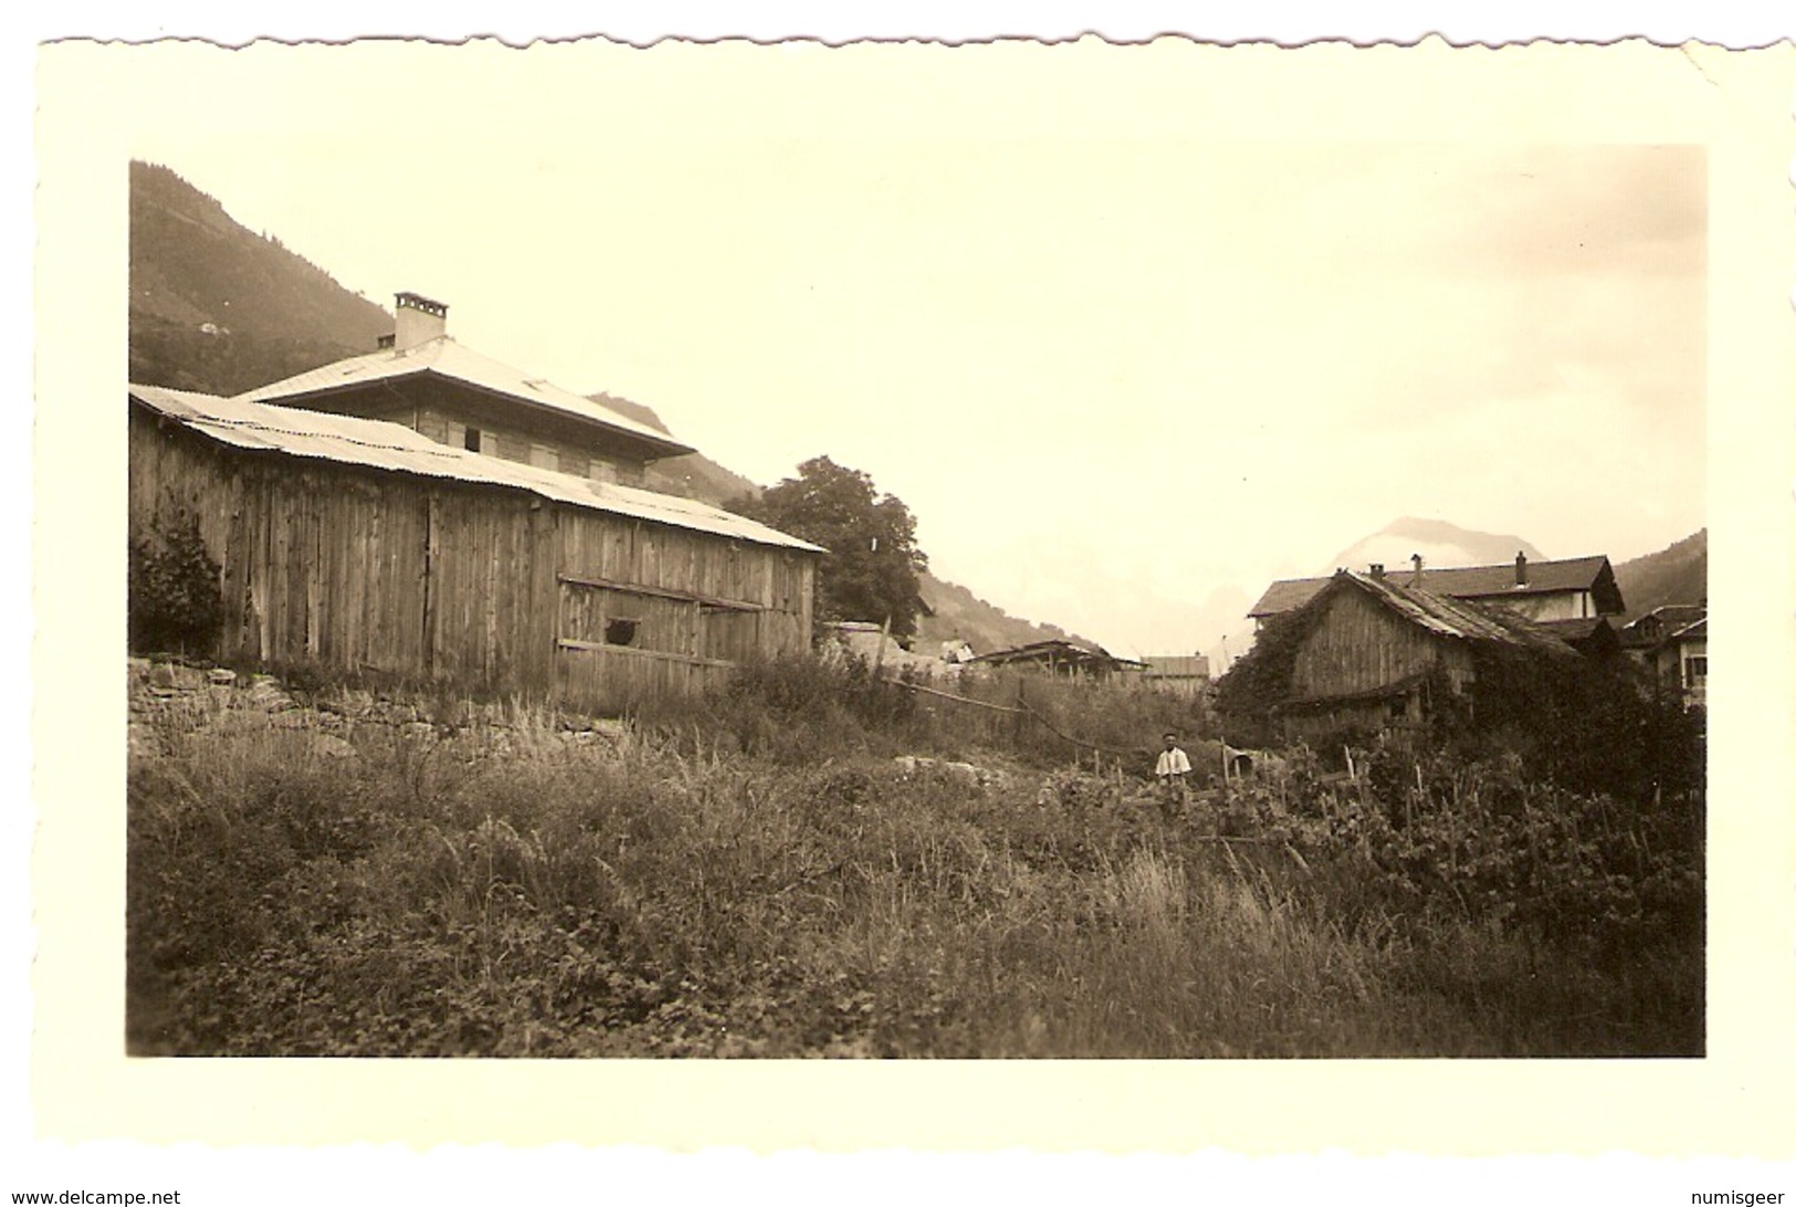
{"label": "house with pale hipped roof and chimney rising behind the barn", "polygon": [[381,348],[237,401],[379,418],[456,449],[630,487],[643,485],[650,462],[693,451],[602,402],[462,347],[447,334],[442,302],[401,293],[393,316]]}

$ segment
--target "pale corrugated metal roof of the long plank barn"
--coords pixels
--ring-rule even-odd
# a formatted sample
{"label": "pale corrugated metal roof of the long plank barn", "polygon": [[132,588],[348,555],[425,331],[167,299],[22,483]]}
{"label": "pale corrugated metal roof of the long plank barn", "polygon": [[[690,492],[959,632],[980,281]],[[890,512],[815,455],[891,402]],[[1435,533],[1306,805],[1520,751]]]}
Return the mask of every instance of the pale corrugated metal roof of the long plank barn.
{"label": "pale corrugated metal roof of the long plank barn", "polygon": [[672,528],[706,532],[753,544],[823,553],[821,546],[760,524],[744,515],[726,512],[672,494],[620,487],[609,481],[591,481],[575,474],[560,474],[523,462],[505,462],[481,453],[469,453],[401,424],[352,415],[329,415],[289,406],[269,406],[221,399],[210,393],[165,390],[162,386],[129,386],[133,402],[145,406],[210,440],[239,449],[280,453],[311,460],[359,465],[390,472],[445,478],[485,487],[528,490],[555,503],[566,503],[593,512],[627,515]]}

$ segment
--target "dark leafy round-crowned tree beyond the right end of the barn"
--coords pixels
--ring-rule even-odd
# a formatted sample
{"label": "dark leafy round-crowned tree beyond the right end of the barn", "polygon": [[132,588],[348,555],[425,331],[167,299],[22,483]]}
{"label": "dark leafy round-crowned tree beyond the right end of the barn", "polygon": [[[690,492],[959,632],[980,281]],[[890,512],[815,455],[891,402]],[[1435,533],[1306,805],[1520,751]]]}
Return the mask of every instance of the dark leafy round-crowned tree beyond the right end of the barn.
{"label": "dark leafy round-crowned tree beyond the right end of the barn", "polygon": [[814,456],[797,478],[742,499],[736,510],[828,550],[817,568],[819,620],[891,618],[894,636],[916,634],[923,611],[918,575],[929,557],[916,548],[916,519],[902,499],[878,494],[858,469]]}

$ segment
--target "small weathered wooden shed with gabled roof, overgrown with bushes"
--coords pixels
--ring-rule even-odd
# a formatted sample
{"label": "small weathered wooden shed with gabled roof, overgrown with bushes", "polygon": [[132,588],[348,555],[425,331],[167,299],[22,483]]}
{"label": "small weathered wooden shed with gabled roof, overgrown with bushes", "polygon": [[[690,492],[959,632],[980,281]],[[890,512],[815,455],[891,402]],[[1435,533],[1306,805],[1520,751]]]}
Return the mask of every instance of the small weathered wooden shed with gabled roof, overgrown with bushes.
{"label": "small weathered wooden shed with gabled roof, overgrown with bushes", "polygon": [[1575,674],[1582,659],[1507,607],[1419,591],[1390,575],[1338,571],[1291,614],[1290,683],[1275,708],[1288,740],[1343,729],[1478,724],[1518,700],[1518,683]]}

